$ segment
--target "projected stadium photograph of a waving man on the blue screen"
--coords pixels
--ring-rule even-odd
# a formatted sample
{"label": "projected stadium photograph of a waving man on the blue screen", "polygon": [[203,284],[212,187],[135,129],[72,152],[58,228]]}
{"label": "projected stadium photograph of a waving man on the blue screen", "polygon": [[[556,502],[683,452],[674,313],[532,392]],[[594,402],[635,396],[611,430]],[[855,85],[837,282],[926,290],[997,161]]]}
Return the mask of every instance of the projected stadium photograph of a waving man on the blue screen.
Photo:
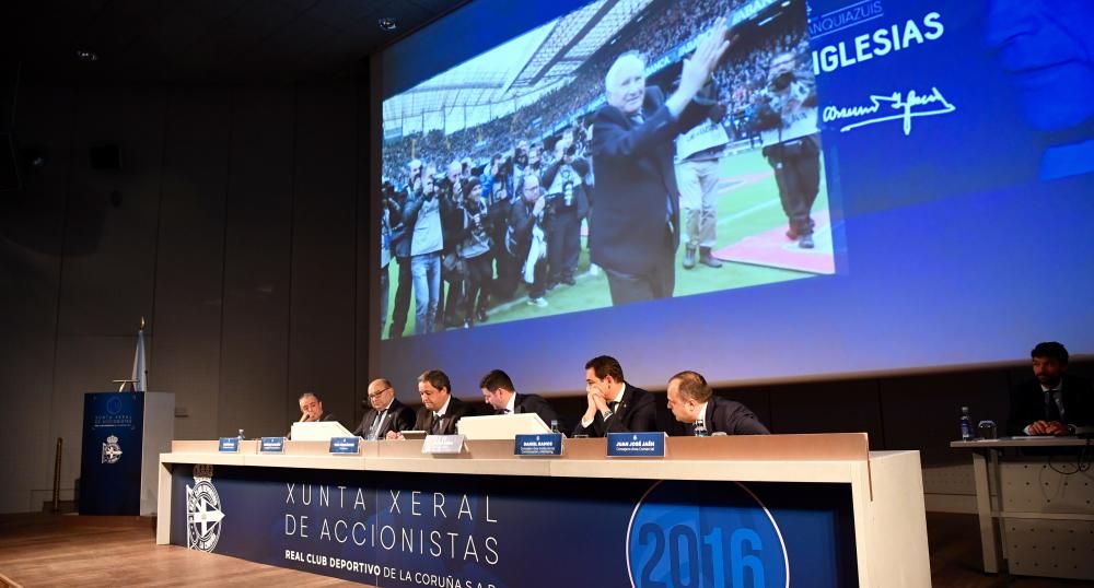
{"label": "projected stadium photograph of a waving man on the blue screen", "polygon": [[804,0],[602,0],[383,103],[381,338],[835,273]]}

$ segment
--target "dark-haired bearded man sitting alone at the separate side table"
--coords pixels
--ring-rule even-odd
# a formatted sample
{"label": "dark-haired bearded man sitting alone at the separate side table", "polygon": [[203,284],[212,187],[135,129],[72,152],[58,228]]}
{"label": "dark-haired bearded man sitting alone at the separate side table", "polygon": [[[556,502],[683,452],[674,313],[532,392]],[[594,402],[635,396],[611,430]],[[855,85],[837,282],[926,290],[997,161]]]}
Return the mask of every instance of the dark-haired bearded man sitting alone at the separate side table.
{"label": "dark-haired bearded man sitting alone at the separate side table", "polygon": [[1094,388],[1067,374],[1068,350],[1056,341],[1029,353],[1033,379],[1011,390],[1011,435],[1074,435],[1094,432]]}

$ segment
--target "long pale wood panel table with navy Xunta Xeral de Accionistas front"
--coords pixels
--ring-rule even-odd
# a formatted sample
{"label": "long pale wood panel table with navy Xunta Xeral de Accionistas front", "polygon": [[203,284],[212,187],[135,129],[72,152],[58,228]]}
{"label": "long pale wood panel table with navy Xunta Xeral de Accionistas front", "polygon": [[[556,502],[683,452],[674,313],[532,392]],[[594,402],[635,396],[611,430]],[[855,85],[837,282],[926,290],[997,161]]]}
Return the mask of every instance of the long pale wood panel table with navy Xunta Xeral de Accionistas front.
{"label": "long pale wood panel table with navy Xunta Xeral de Accionistas front", "polygon": [[919,454],[865,434],[668,438],[663,459],[421,448],[174,442],[156,542],[383,587],[931,584]]}

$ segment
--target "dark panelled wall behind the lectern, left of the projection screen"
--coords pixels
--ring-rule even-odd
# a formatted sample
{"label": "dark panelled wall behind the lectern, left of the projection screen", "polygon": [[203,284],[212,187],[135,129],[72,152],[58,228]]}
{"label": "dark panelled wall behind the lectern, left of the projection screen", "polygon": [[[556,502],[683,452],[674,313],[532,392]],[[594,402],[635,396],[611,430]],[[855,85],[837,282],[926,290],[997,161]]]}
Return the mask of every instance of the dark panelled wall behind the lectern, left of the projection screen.
{"label": "dark panelled wall behind the lectern, left of the projection screen", "polygon": [[[0,427],[20,471],[0,511],[48,499],[57,437],[71,494],[83,393],[129,377],[142,316],[176,438],[281,434],[307,389],[359,418],[353,82],[20,92],[20,143],[48,162],[0,192],[0,391],[20,414]],[[120,169],[93,168],[98,144],[120,148]]]}

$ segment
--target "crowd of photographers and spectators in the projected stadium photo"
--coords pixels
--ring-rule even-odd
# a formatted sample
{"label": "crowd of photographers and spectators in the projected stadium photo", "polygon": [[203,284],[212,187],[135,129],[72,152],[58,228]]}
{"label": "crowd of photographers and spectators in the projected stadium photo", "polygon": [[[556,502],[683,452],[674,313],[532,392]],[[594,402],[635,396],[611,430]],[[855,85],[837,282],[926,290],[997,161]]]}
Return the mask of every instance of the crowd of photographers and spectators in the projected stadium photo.
{"label": "crowd of photographers and spectators in the projected stadium photo", "polygon": [[[616,43],[601,47],[574,71],[571,82],[535,103],[454,132],[431,129],[385,138],[381,337],[469,328],[489,321],[500,304],[550,313],[552,294],[575,284],[586,237],[597,231],[591,214],[597,205],[591,143],[594,104],[604,96],[609,68],[628,50],[652,63],[744,3],[656,0],[620,30]],[[724,130],[726,146],[763,145],[772,60],[792,55],[795,67],[810,63],[805,27],[795,24],[802,26],[784,26],[749,44],[731,39],[709,75],[705,93],[717,102],[711,111],[718,113],[711,124]],[[648,83],[667,95],[673,84],[667,75],[651,75]],[[765,156],[776,167],[767,151]],[[813,192],[815,198],[815,186]],[[810,211],[805,224],[795,225],[785,202],[783,208],[790,222],[787,236],[812,247]],[[684,225],[686,232],[687,219]],[[685,257],[685,269],[697,260],[720,266],[710,243],[693,240],[686,235],[680,240],[689,243],[693,256]],[[597,271],[589,264],[589,273]]]}

